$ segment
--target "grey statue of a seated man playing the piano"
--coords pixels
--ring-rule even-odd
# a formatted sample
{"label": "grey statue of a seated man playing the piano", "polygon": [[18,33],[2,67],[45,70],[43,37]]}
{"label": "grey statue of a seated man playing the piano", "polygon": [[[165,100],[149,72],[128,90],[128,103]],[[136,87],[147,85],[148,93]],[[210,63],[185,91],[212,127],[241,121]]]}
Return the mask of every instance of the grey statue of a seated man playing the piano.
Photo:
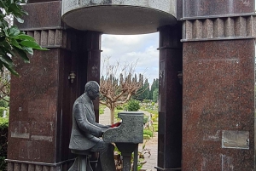
{"label": "grey statue of a seated man playing the piano", "polygon": [[[85,84],[85,91],[73,104],[73,128],[69,149],[73,153],[83,154],[88,151],[99,152],[102,171],[114,171],[113,145],[106,143],[100,137],[110,128],[110,125],[96,123],[92,100],[99,97],[99,84],[90,81]],[[75,163],[69,171],[78,171]],[[82,170],[80,170],[82,171]]]}

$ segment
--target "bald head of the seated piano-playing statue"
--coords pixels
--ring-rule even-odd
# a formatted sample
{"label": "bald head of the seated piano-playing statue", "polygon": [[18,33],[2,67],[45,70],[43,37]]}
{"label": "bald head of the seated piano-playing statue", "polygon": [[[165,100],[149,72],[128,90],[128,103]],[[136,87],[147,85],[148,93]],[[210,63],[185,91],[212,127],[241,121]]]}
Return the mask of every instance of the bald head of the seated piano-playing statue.
{"label": "bald head of the seated piano-playing statue", "polygon": [[100,95],[100,86],[95,81],[86,83],[84,89],[85,94],[88,95],[90,100],[96,100],[96,98]]}

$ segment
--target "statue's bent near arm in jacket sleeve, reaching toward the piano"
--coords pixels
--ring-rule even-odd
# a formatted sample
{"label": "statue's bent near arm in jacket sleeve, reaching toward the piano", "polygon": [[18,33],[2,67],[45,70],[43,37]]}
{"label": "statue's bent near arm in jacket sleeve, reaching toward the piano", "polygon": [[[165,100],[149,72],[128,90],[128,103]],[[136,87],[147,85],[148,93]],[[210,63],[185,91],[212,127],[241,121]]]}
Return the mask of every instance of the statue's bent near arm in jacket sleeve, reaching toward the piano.
{"label": "statue's bent near arm in jacket sleeve, reaching toward the piano", "polygon": [[89,111],[88,109],[84,108],[82,104],[77,104],[74,107],[75,108],[73,111],[73,115],[76,119],[76,122],[79,125],[79,128],[88,134],[92,134],[93,136],[96,137],[101,137],[102,134],[106,131],[106,129],[100,128],[88,121],[87,117],[89,117]]}

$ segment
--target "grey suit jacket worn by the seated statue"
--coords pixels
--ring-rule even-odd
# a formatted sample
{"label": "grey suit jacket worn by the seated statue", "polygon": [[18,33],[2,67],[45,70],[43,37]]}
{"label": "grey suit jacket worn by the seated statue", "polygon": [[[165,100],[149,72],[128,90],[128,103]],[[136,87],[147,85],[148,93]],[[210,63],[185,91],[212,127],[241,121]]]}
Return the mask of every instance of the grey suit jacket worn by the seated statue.
{"label": "grey suit jacket worn by the seated statue", "polygon": [[69,143],[71,150],[88,150],[100,140],[108,128],[96,123],[93,103],[87,94],[82,94],[73,104],[73,128]]}

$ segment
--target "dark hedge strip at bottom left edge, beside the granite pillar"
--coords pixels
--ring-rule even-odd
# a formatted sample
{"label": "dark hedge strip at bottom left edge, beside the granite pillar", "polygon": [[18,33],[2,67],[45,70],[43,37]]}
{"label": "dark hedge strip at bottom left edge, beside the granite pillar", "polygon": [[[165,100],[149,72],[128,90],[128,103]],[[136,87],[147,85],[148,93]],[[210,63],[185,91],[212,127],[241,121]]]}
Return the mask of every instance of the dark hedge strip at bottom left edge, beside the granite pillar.
{"label": "dark hedge strip at bottom left edge, beside the granite pillar", "polygon": [[7,163],[7,138],[8,138],[8,118],[0,117],[0,170],[6,170]]}

